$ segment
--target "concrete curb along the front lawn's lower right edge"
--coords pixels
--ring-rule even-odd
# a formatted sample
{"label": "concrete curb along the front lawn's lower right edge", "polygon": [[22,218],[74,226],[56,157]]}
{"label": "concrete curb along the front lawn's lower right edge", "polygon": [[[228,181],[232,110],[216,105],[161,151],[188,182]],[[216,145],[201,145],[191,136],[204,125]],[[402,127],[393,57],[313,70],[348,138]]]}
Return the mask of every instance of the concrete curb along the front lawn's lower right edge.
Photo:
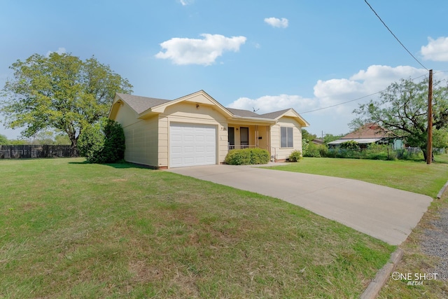
{"label": "concrete curb along the front lawn's lower right edge", "polygon": [[381,288],[383,288],[384,284],[386,284],[389,277],[391,277],[392,271],[395,270],[395,267],[400,262],[403,253],[404,252],[401,248],[397,248],[397,250],[393,251],[388,263],[377,272],[375,278],[370,282],[369,286],[367,286],[365,291],[361,294],[360,299],[377,298],[379,292],[381,291]]}

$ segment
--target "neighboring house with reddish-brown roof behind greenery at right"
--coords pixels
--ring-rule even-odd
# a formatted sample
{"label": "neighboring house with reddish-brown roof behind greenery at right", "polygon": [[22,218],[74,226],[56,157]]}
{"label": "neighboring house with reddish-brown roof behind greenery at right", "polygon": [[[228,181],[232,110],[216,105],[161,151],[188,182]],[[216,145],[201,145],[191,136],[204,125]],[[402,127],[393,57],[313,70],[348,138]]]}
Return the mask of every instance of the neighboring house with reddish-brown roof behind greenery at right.
{"label": "neighboring house with reddish-brown roof behind greenery at right", "polygon": [[346,141],[355,141],[360,148],[367,148],[370,144],[392,144],[393,149],[402,148],[402,140],[393,137],[391,132],[379,125],[369,123],[335,141],[328,142],[329,148],[336,148]]}

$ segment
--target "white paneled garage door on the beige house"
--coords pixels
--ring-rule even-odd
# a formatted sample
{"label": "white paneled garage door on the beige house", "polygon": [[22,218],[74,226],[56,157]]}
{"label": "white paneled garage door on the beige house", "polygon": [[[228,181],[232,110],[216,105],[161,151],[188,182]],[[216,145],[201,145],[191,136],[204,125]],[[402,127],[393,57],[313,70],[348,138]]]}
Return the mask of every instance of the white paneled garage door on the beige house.
{"label": "white paneled garage door on the beige house", "polygon": [[169,167],[216,164],[216,126],[172,123]]}

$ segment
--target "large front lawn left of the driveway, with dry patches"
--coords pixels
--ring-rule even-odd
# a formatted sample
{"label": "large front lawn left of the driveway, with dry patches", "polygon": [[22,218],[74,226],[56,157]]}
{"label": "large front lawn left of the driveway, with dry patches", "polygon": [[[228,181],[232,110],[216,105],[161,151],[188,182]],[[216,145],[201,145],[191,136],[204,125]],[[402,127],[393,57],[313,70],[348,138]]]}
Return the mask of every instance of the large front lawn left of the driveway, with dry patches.
{"label": "large front lawn left of the driveway, with dry patches", "polygon": [[395,249],[129,164],[0,161],[0,298],[357,298]]}

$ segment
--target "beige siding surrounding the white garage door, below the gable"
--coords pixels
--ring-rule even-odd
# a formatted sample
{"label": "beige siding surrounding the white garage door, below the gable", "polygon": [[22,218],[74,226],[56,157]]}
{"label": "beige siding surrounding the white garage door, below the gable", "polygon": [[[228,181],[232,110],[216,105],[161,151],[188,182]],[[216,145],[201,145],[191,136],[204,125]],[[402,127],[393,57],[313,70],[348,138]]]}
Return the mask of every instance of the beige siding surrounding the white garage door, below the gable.
{"label": "beige siding surrounding the white garage door, below the gable", "polygon": [[168,106],[159,116],[158,167],[169,167],[170,123],[216,125],[216,164],[224,162],[225,155],[228,153],[227,120],[213,106],[200,104],[197,107],[196,103],[181,102]]}

